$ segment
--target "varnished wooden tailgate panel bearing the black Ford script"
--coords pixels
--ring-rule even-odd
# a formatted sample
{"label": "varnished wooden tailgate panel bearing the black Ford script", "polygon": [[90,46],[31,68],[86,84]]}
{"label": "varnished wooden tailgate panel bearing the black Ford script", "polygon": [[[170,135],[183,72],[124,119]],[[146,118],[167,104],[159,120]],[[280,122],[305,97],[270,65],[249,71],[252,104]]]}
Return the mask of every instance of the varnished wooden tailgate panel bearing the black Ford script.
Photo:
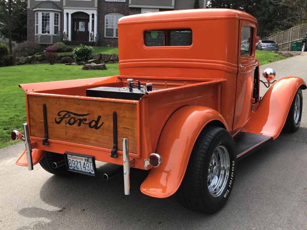
{"label": "varnished wooden tailgate panel bearing the black Ford script", "polygon": [[48,138],[100,148],[113,148],[113,112],[117,113],[118,150],[128,137],[129,152],[137,153],[137,104],[28,96],[30,134],[43,138],[43,104],[47,110]]}

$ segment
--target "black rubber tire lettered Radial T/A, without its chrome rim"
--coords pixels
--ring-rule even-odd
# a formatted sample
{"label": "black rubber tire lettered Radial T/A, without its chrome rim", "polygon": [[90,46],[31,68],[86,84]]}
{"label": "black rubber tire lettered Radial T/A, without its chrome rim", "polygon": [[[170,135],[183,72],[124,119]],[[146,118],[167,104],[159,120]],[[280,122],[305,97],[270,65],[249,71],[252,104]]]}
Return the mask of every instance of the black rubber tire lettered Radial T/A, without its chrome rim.
{"label": "black rubber tire lettered Radial T/A, without its chrome rim", "polygon": [[[217,148],[225,147],[229,153],[229,175],[220,195],[209,192],[209,167]],[[234,185],[236,172],[235,142],[227,130],[220,127],[205,127],[193,147],[185,176],[178,190],[181,204],[197,212],[212,214],[220,210],[228,200]],[[219,174],[219,173],[218,173]],[[209,181],[209,182],[208,182]]]}

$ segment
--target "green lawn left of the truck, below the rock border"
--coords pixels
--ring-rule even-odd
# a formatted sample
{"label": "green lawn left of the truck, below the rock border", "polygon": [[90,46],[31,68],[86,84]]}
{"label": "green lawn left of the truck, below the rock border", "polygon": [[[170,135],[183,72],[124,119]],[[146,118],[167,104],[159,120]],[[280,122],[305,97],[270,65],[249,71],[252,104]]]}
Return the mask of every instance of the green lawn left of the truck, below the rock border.
{"label": "green lawn left of the truck, below the rock border", "polygon": [[23,132],[26,121],[25,91],[19,84],[105,77],[118,75],[118,64],[106,64],[108,70],[81,70],[83,66],[64,64],[37,64],[1,67],[0,71],[0,148],[16,142],[10,141],[10,133],[17,129]]}

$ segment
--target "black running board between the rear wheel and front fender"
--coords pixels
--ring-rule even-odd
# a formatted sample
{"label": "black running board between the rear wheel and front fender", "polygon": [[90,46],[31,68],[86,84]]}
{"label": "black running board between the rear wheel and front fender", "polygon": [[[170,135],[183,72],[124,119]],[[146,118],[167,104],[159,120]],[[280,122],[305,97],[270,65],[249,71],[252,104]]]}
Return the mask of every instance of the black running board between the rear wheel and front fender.
{"label": "black running board between the rear wheel and front fender", "polygon": [[237,159],[241,160],[266,144],[269,144],[273,140],[273,137],[250,132],[239,132],[233,139],[237,149]]}

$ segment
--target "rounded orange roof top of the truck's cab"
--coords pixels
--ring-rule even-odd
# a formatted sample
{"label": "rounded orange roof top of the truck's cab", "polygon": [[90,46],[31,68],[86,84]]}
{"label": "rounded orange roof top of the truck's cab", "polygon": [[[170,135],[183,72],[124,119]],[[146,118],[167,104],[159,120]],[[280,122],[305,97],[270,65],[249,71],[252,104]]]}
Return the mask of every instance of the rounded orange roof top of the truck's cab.
{"label": "rounded orange roof top of the truck's cab", "polygon": [[188,21],[206,19],[245,19],[257,22],[256,18],[240,10],[231,9],[193,9],[170,10],[155,13],[143,13],[122,17],[118,24],[138,24],[163,21]]}

